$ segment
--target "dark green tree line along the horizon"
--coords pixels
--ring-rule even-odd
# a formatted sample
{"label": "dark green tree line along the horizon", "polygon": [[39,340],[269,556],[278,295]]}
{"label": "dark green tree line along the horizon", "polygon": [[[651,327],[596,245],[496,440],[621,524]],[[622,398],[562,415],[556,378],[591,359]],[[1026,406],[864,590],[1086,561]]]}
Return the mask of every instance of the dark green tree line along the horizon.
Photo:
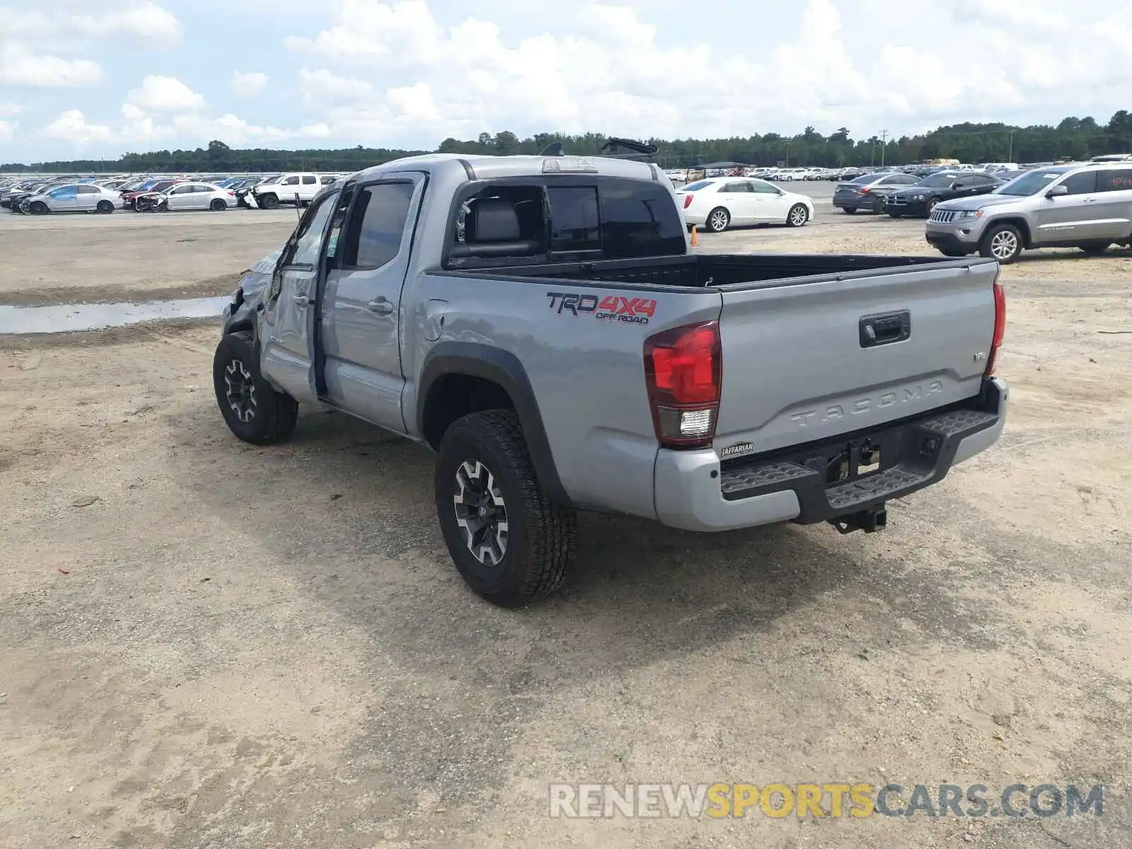
{"label": "dark green tree line along the horizon", "polygon": [[[481,132],[475,139],[446,138],[438,153],[537,154],[561,142],[567,154],[595,155],[607,137],[597,132],[569,136],[539,132],[520,138],[514,132]],[[1065,118],[1056,126],[1013,127],[1005,123],[958,123],[917,136],[881,139],[850,137],[841,127],[823,136],[806,127],[794,136],[766,132],[754,136],[707,139],[648,139],[658,148],[655,161],[664,168],[686,168],[707,162],[740,162],[748,165],[846,165],[911,164],[925,160],[955,158],[960,162],[1050,162],[1086,160],[1106,153],[1132,153],[1132,115],[1116,112],[1107,123],[1094,118]],[[358,171],[370,165],[428,151],[365,147],[325,151],[238,149],[223,142],[209,142],[195,151],[127,153],[118,160],[68,160],[7,163],[0,171],[46,172],[261,172],[261,171]]]}

